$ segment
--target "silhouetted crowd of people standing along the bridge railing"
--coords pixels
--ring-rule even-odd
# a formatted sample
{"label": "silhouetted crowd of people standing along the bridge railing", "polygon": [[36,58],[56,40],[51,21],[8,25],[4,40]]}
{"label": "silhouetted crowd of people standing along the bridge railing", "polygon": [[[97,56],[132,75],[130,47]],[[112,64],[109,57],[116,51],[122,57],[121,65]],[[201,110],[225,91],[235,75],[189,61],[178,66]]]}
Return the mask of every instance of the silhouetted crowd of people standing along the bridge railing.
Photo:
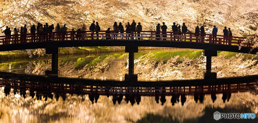
{"label": "silhouetted crowd of people standing along the bridge railing", "polygon": [[[163,25],[160,25],[159,23],[157,24],[156,26],[156,40],[167,40],[167,35],[166,35],[166,31],[168,29],[168,27],[165,25],[165,22],[162,23]],[[125,27],[125,29],[124,29]],[[98,31],[101,31],[101,28],[99,26],[99,23],[95,21],[92,22],[92,24],[90,25],[89,27],[89,30],[91,30],[93,33],[95,32],[96,33],[96,36],[97,38],[96,39],[99,39],[99,33]],[[49,41],[51,40],[51,32],[60,32],[60,33],[57,33],[57,39],[56,40],[61,40],[61,37],[67,37],[68,35],[62,35],[62,34],[66,34],[68,31],[68,28],[66,27],[66,24],[64,24],[63,26],[60,26],[59,23],[57,23],[57,25],[54,27],[54,24],[51,24],[49,25],[48,23],[45,23],[44,25],[41,24],[41,23],[38,23],[37,26],[35,25],[32,25],[30,27],[30,32],[29,30],[27,29],[27,25],[25,24],[23,27],[21,27],[20,29],[19,28],[14,28],[13,30],[13,34],[15,35],[14,37],[14,40],[18,40],[20,38],[19,41],[21,42],[26,42],[26,36],[27,35],[21,35],[20,37],[18,37],[18,34],[28,34],[30,33],[31,35],[31,42],[37,42],[37,41]],[[83,27],[82,29],[77,29],[76,31],[74,29],[71,29],[71,32],[73,32],[72,35],[70,35],[71,39],[77,39],[77,40],[80,40],[82,38],[81,34],[83,33],[82,31],[86,31],[86,28]],[[106,39],[111,39],[110,37],[110,32],[111,29],[108,28],[106,30]],[[123,33],[126,33],[125,36],[128,36],[126,37],[126,39],[131,39],[132,37],[130,37],[133,33],[133,36],[137,36],[137,39],[141,39],[140,38],[140,33],[142,31],[142,25],[140,22],[138,22],[138,24],[136,24],[136,22],[133,20],[133,22],[130,24],[129,22],[127,22],[124,26],[122,25],[122,22],[119,22],[119,24],[117,25],[117,22],[114,22],[114,25],[113,25],[113,31],[118,31],[120,33],[120,36],[121,36],[121,39],[123,35]],[[12,30],[10,29],[10,27],[6,27],[6,29],[3,31],[3,33],[7,36],[6,38],[9,38],[9,39],[6,39],[5,41],[10,41],[11,40],[11,33]],[[49,33],[46,33],[46,34],[42,34],[44,32],[49,32]],[[185,23],[183,23],[182,27],[180,24],[177,24],[174,22],[173,23],[173,26],[172,26],[172,32],[173,32],[173,40],[174,41],[186,41],[186,40],[181,40],[180,39],[180,35],[186,35],[185,33],[188,33],[190,32],[186,26]],[[182,32],[182,33],[181,33]],[[217,32],[218,32],[218,29],[216,28],[216,26],[214,26],[213,30],[212,30],[212,37],[213,37],[213,40],[217,40],[216,38],[216,35],[217,35]],[[37,34],[38,33],[38,34]],[[91,34],[92,36],[94,34]],[[160,33],[162,34],[162,38],[161,38],[161,35]],[[201,36],[201,37],[196,37],[195,40],[196,42],[200,42],[200,38],[202,39],[205,39],[204,36],[206,36],[206,32],[205,32],[205,29],[204,29],[204,26],[201,26],[199,28],[199,26],[197,26],[195,28],[195,32],[194,32],[195,36]],[[232,31],[230,30],[230,28],[227,29],[227,27],[224,27],[224,30],[223,30],[223,35],[224,36],[232,36]],[[117,34],[114,34],[113,36],[118,36]],[[186,38],[186,36],[184,36],[184,38]],[[230,37],[224,37],[224,38],[230,38]],[[65,38],[67,39],[67,38]],[[65,40],[63,39],[63,40]],[[114,39],[117,39],[116,37],[114,37]],[[133,38],[133,39],[136,39],[136,38]],[[229,40],[223,40],[223,41],[229,41]],[[8,42],[10,43],[10,42]],[[17,41],[15,41],[14,43],[18,43]],[[213,43],[216,43],[215,41],[213,41]]]}

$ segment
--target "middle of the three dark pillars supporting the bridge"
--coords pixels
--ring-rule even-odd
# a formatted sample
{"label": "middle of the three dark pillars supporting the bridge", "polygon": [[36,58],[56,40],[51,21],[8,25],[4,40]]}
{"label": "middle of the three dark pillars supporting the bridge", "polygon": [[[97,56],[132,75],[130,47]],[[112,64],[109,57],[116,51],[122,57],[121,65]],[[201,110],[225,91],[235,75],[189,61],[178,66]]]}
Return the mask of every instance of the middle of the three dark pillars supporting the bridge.
{"label": "middle of the three dark pillars supporting the bridge", "polygon": [[138,53],[138,46],[128,45],[125,47],[125,52],[129,53],[128,74],[125,74],[125,81],[137,81],[138,74],[134,74],[134,53]]}

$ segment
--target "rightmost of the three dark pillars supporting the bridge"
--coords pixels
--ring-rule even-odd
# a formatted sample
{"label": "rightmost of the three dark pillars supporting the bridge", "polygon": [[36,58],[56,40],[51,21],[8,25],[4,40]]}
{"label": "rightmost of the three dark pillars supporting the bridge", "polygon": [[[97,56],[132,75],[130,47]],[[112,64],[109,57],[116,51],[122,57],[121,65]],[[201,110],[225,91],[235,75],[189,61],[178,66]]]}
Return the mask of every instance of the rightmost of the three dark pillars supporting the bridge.
{"label": "rightmost of the three dark pillars supporting the bridge", "polygon": [[216,79],[217,73],[211,72],[211,58],[217,56],[217,50],[207,48],[204,50],[204,56],[206,56],[206,72],[203,73],[204,79]]}

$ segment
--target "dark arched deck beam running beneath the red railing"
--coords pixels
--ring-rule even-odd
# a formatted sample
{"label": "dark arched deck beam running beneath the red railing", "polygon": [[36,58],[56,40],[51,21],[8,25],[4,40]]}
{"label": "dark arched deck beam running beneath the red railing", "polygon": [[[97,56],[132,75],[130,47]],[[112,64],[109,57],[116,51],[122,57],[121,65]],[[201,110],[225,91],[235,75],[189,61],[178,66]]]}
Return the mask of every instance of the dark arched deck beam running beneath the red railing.
{"label": "dark arched deck beam running beneath the red railing", "polygon": [[[173,47],[173,48],[191,48],[191,49],[208,49],[212,48],[217,51],[228,51],[237,53],[249,53],[250,48],[242,47],[239,50],[238,46],[196,43],[196,42],[172,42],[172,41],[157,41],[157,40],[65,40],[53,42],[34,42],[21,44],[0,45],[0,51],[26,50],[47,47],[85,47],[85,46],[127,46],[136,45],[139,47]],[[256,54],[257,49],[254,49],[250,54]]]}

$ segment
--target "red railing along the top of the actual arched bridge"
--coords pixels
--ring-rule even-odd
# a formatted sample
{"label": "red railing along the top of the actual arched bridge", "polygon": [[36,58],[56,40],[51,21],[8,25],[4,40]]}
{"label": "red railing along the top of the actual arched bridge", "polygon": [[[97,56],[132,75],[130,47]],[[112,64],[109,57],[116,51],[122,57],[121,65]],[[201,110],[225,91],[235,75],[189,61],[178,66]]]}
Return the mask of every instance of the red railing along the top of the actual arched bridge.
{"label": "red railing along the top of the actual arched bridge", "polygon": [[194,34],[182,32],[156,32],[156,31],[69,31],[45,32],[34,34],[19,34],[0,36],[0,45],[15,43],[54,42],[68,40],[167,40],[173,42],[197,42],[218,45],[231,45],[252,48],[252,44],[243,43],[243,37]]}

